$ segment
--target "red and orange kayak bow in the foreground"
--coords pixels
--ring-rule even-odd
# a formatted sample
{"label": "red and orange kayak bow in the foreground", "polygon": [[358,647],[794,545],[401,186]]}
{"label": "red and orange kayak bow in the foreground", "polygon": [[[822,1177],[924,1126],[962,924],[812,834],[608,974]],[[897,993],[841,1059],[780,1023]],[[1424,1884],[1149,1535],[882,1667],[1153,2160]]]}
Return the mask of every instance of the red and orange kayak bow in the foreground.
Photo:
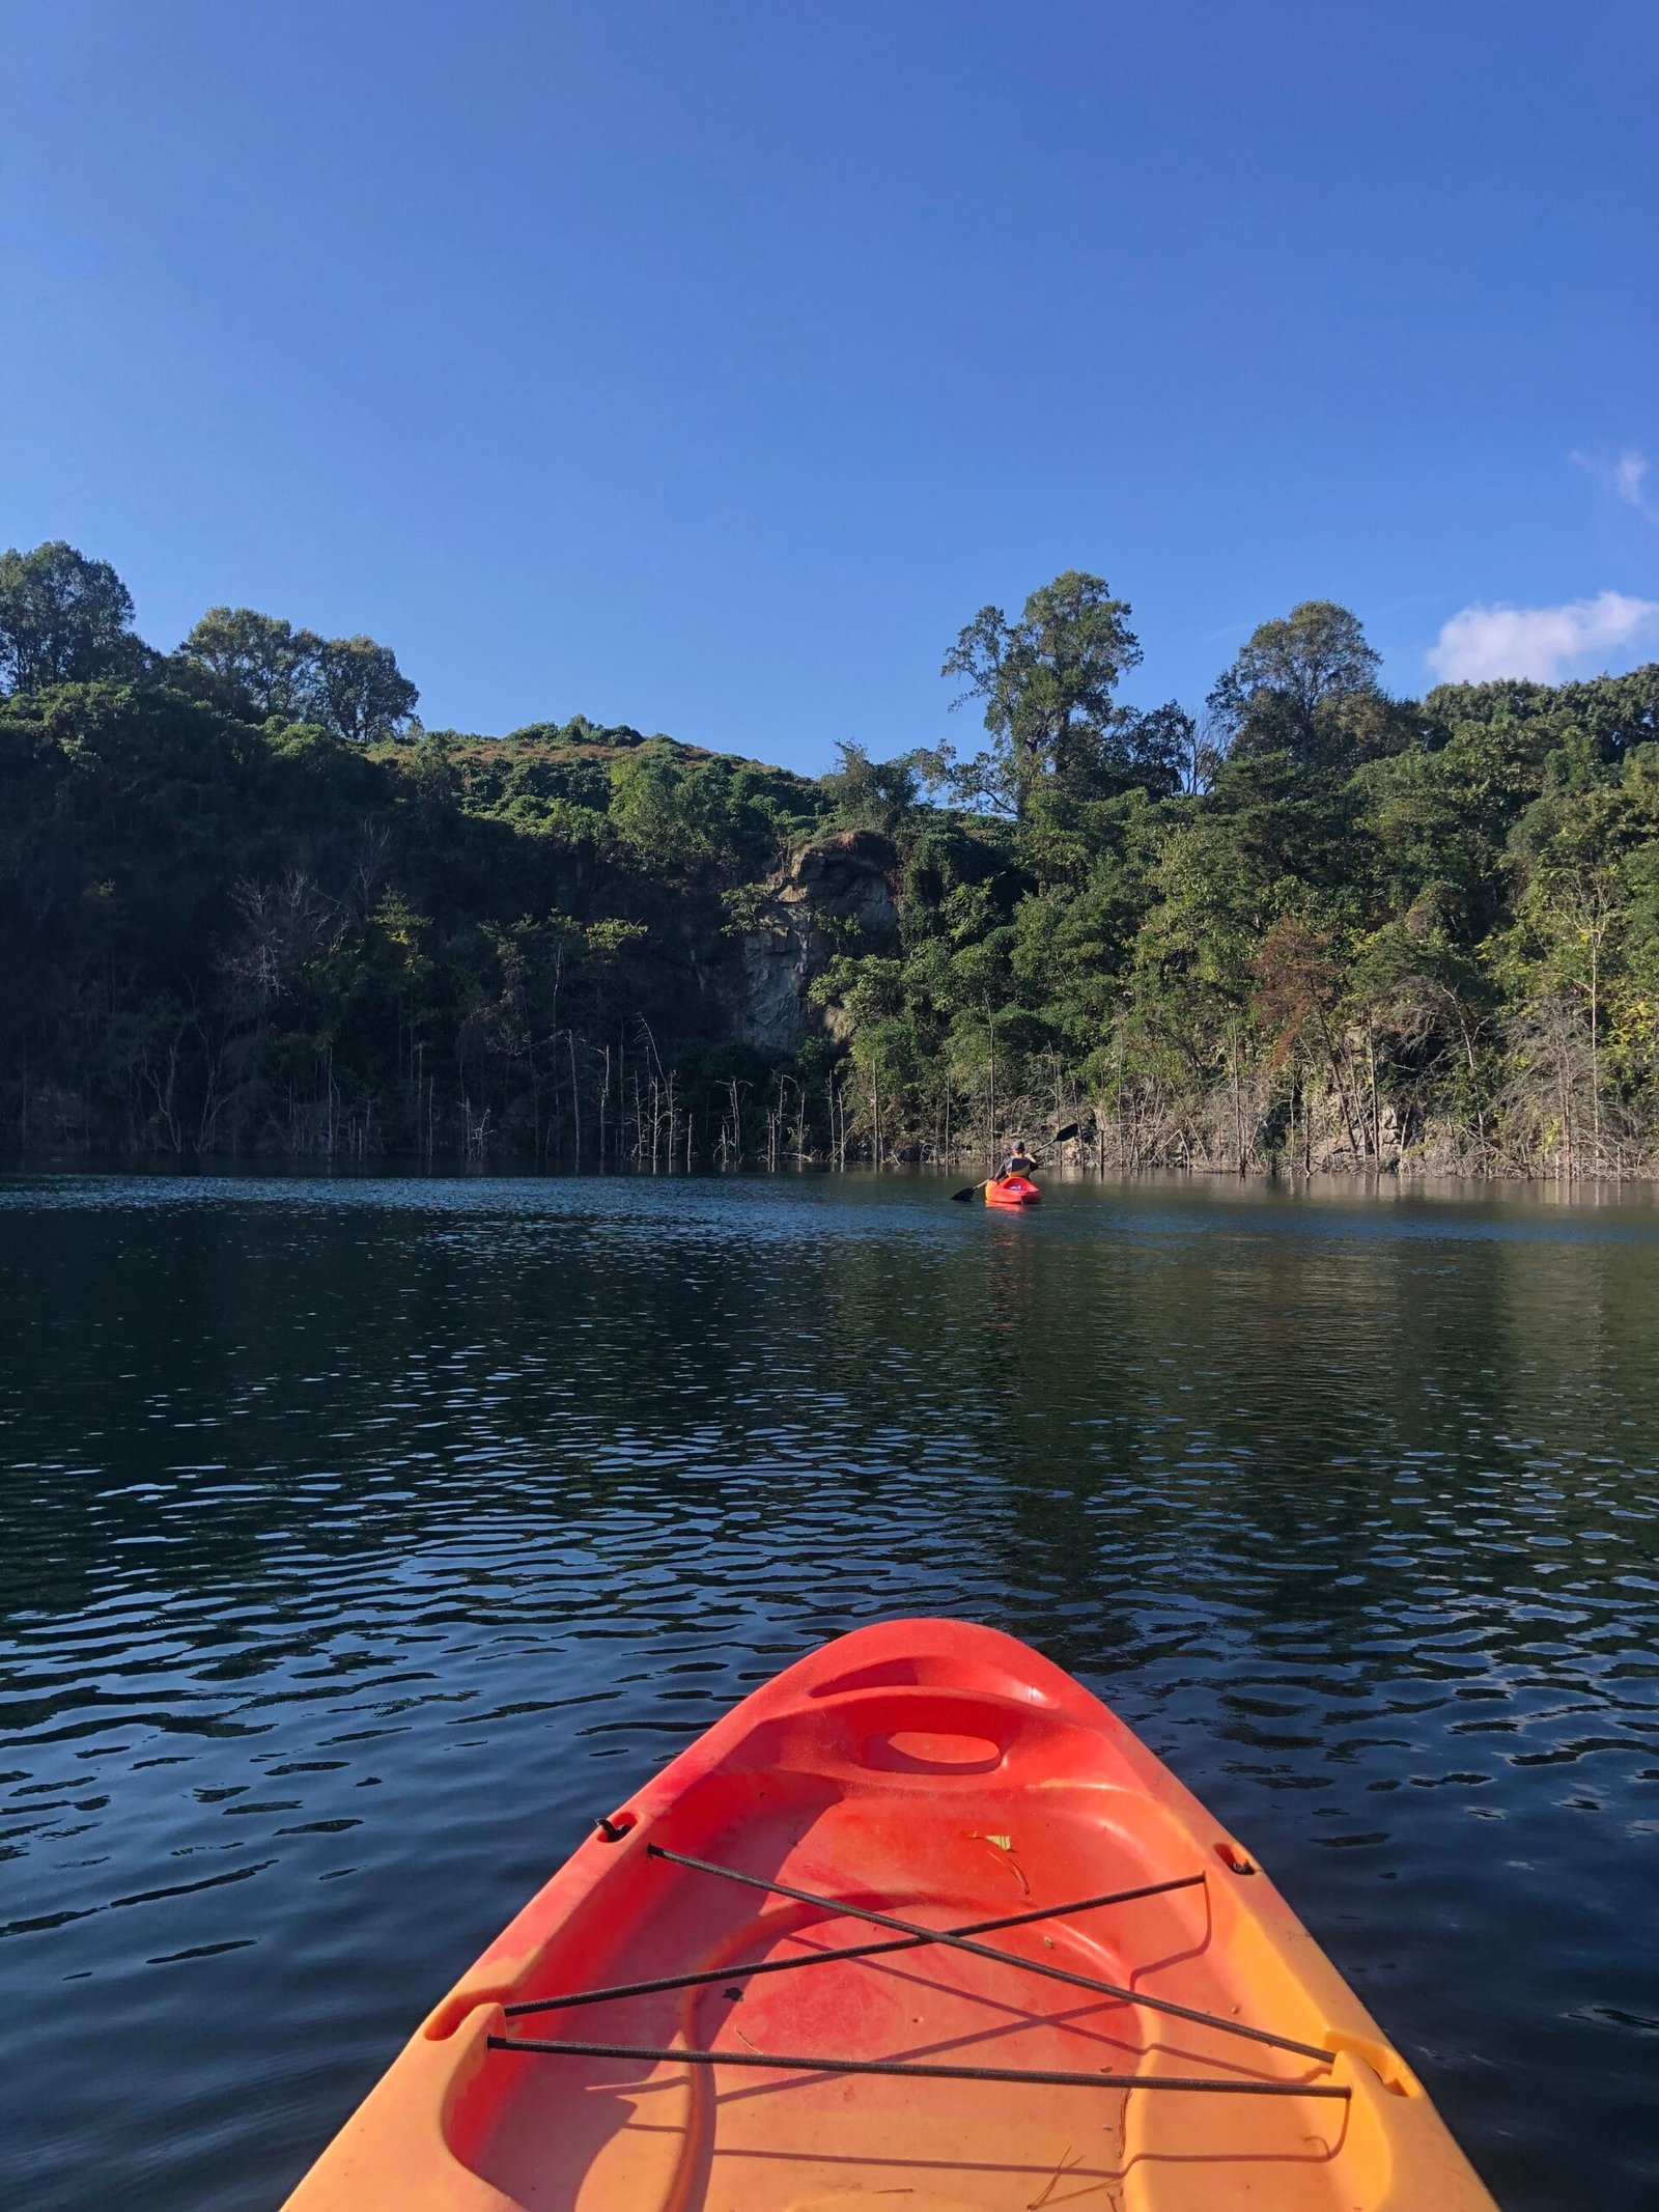
{"label": "red and orange kayak bow in the foreground", "polygon": [[[1102,1896],[1117,1902],[1079,1902]],[[995,1958],[929,1942],[750,1973],[898,1942],[894,1920],[1015,1918],[964,1938]],[[686,1973],[710,1980],[507,2011]],[[597,2048],[504,2048],[549,2039]],[[1155,2086],[1175,2079],[1232,2086]],[[1243,1847],[1075,1681],[956,1621],[827,1644],[617,1807],[436,2006],[290,2212],[852,2212],[883,2194],[907,2212],[1073,2194],[1113,2212],[1493,2212]]]}

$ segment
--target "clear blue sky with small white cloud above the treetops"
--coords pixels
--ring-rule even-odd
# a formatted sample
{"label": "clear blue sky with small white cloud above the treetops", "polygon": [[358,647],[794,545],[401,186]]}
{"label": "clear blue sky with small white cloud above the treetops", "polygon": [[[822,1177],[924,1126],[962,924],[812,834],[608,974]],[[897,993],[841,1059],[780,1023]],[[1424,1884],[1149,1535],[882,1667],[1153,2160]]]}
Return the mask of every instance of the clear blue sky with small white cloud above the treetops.
{"label": "clear blue sky with small white cloud above the treetops", "polygon": [[[1659,655],[1659,9],[11,9],[0,542],[392,644],[427,723],[940,734],[973,611],[1130,697]],[[1431,659],[1433,657],[1433,659]]]}

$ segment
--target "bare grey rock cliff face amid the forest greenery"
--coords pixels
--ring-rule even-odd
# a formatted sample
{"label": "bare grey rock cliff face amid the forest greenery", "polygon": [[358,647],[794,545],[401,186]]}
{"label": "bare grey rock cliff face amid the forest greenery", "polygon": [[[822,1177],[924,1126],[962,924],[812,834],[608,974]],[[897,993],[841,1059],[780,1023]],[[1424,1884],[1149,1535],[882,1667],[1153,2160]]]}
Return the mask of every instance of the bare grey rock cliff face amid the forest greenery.
{"label": "bare grey rock cliff face amid the forest greenery", "polygon": [[759,1051],[790,1053],[834,1018],[807,993],[838,951],[880,951],[898,936],[894,872],[883,836],[852,830],[805,845],[765,885],[757,927],[741,938],[741,982],[732,1035]]}

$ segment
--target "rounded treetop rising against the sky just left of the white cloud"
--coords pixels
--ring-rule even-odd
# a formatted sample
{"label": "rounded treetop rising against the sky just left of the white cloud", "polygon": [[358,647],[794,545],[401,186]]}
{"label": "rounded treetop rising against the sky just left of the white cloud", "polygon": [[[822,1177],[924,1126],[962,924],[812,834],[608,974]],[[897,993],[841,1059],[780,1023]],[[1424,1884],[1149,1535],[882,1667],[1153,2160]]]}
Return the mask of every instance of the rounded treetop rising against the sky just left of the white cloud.
{"label": "rounded treetop rising against the sky just left of the white cloud", "polygon": [[1210,692],[1208,708],[1232,752],[1287,752],[1305,768],[1352,768],[1376,743],[1365,708],[1380,703],[1360,617],[1334,599],[1303,599],[1263,622]]}

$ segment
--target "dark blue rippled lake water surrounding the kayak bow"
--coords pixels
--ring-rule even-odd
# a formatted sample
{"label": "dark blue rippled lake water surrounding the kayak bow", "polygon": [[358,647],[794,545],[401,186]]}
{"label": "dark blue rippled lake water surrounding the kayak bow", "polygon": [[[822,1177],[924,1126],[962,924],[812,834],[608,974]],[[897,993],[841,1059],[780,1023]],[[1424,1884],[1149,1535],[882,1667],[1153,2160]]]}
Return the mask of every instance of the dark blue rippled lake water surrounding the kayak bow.
{"label": "dark blue rippled lake water surrounding the kayak bow", "polygon": [[0,1183],[7,2205],[272,2205],[595,1812],[958,1613],[1509,2212],[1650,2212],[1659,1212],[947,1190]]}

